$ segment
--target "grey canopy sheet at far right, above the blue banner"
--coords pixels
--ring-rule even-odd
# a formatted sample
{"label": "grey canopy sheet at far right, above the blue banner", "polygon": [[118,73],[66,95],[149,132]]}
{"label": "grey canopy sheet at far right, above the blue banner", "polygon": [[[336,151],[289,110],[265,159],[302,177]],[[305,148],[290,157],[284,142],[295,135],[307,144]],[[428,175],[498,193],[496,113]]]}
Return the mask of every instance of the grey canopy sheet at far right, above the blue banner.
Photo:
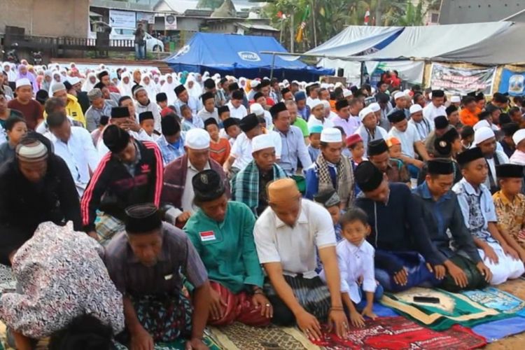
{"label": "grey canopy sheet at far right, above the blue banner", "polygon": [[500,64],[524,64],[525,46],[521,45],[525,33],[524,23],[514,23],[512,27],[486,38],[479,43],[460,48],[436,58],[443,62],[469,62],[487,66]]}

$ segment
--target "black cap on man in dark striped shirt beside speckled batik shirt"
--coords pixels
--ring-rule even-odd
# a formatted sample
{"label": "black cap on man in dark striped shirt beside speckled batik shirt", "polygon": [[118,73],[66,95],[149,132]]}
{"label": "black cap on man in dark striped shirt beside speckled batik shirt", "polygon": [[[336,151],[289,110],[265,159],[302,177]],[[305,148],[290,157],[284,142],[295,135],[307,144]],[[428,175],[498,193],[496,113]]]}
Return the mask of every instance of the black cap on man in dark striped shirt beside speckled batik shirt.
{"label": "black cap on man in dark striped shirt beside speckled batik shirt", "polygon": [[145,234],[162,227],[160,213],[153,203],[134,204],[126,210],[126,232],[128,234]]}

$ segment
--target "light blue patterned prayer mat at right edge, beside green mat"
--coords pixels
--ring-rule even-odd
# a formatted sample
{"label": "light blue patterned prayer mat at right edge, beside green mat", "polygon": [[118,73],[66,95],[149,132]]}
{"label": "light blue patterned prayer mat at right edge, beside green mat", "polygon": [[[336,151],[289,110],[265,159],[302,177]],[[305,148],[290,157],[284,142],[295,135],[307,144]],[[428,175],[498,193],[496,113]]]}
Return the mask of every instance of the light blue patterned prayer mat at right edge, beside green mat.
{"label": "light blue patterned prayer mat at right edge, beside green mat", "polygon": [[487,287],[477,290],[463,290],[461,294],[489,309],[496,309],[503,312],[503,314],[525,317],[525,302],[498,288]]}

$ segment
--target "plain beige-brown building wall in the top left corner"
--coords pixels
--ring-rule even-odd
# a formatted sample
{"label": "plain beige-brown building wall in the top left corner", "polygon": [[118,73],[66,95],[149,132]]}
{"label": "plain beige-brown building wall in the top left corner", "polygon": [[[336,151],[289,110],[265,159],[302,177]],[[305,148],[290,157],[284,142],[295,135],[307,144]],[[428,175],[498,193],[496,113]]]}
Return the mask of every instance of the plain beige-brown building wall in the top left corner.
{"label": "plain beige-brown building wall in the top left corner", "polygon": [[85,38],[89,0],[0,0],[0,32],[6,25],[36,36]]}

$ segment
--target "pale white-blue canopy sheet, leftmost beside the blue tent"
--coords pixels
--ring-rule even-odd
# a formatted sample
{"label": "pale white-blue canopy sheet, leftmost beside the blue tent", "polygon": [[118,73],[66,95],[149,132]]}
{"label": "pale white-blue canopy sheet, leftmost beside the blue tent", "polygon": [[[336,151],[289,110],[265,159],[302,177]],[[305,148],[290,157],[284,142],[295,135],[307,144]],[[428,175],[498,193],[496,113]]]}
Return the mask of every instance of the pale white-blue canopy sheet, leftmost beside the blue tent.
{"label": "pale white-blue canopy sheet, leftmost beside the blue tent", "polygon": [[348,57],[386,44],[397,37],[403,27],[372,27],[353,25],[346,27],[330,40],[306,52],[326,56]]}

